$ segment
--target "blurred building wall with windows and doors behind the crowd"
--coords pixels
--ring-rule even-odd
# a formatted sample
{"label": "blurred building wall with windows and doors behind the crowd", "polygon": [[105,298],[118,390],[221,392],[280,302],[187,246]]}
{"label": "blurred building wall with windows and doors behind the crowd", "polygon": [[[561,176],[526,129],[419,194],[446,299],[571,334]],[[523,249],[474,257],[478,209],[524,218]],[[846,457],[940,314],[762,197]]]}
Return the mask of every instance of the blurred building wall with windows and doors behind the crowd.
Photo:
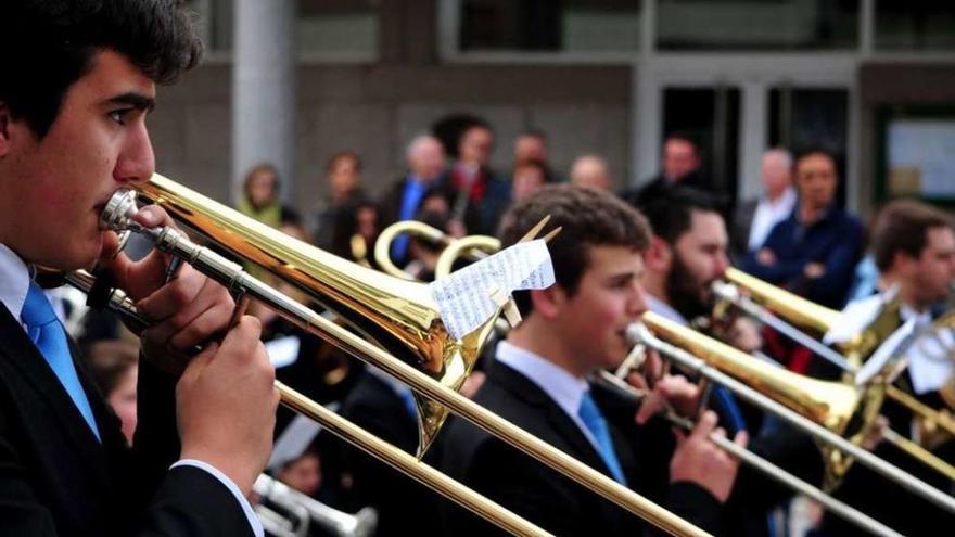
{"label": "blurred building wall with windows and doors behind the crowd", "polygon": [[[235,3],[193,4],[206,61],[161,92],[153,139],[160,170],[228,200],[243,172],[230,166]],[[537,128],[558,170],[598,153],[616,187],[657,171],[666,132],[688,132],[702,142],[704,172],[738,199],[757,192],[767,146],[820,144],[841,161],[849,206],[866,210],[926,190],[927,172],[892,167],[890,135],[912,139],[896,124],[955,123],[951,2],[298,0],[296,9],[288,200],[319,199],[324,159],[342,149],[362,155],[366,188],[379,191],[399,174],[408,140],[470,113],[495,128],[499,169],[509,169],[517,135]],[[947,200],[944,187],[929,197]]]}

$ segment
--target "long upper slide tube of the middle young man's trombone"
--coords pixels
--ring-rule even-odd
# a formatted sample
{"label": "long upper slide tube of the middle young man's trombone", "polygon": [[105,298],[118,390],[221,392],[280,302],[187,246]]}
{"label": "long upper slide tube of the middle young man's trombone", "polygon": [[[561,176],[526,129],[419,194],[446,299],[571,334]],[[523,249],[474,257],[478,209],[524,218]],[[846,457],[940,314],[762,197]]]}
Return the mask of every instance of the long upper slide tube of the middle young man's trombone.
{"label": "long upper slide tube of the middle young man's trombone", "polygon": [[[645,319],[652,319],[654,323],[658,321],[659,323],[665,323],[667,329],[672,327],[674,331],[691,330],[673,323],[672,321],[666,321],[660,316],[654,316],[650,312],[644,314],[644,316]],[[888,477],[891,481],[894,481],[895,483],[931,501],[932,503],[945,509],[950,513],[955,513],[955,498],[953,498],[952,496],[948,496],[938,488],[928,485],[927,483],[916,478],[915,476],[901,470],[900,468],[886,462],[879,457],[876,457],[869,451],[866,451],[862,447],[852,444],[845,438],[813,422],[812,420],[800,415],[795,411],[785,407],[782,404],[771,399],[768,396],[763,395],[762,393],[751,388],[740,381],[737,381],[736,379],[720,371],[718,369],[709,366],[702,358],[698,358],[689,351],[666,343],[654,335],[648,333],[642,334],[641,332],[649,331],[649,329],[646,329],[646,327],[644,327],[644,329],[645,330],[627,330],[627,337],[631,338],[632,344],[646,344],[648,347],[668,356],[672,360],[678,362],[680,366],[700,374],[701,376],[709,379],[712,382],[726,386],[735,394],[739,395],[751,404],[766,411],[775,413],[776,415],[782,418],[791,425],[800,429],[801,431],[808,433],[816,438],[824,440],[838,449],[841,449],[842,451],[848,452],[871,470],[878,472],[879,474]],[[739,353],[739,350],[726,344],[720,343],[711,337],[706,337],[705,340],[712,346],[720,348],[721,351]]]}

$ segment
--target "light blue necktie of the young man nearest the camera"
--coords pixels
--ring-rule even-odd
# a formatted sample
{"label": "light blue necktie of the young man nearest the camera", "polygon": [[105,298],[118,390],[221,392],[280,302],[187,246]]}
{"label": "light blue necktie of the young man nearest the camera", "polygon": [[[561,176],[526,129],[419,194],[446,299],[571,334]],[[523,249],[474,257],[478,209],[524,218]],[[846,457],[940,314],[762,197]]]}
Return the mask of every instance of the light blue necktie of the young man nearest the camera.
{"label": "light blue necktie of the young man nearest the camera", "polygon": [[66,340],[66,331],[63,324],[53,312],[53,307],[43,290],[30,282],[29,291],[26,294],[26,302],[23,304],[23,314],[21,319],[26,325],[30,340],[40,349],[40,354],[47,359],[47,363],[56,374],[60,384],[69,394],[74,405],[82,414],[86,422],[100,439],[100,431],[97,429],[97,421],[93,419],[93,411],[90,408],[86,393],[79,384],[79,376],[76,375],[76,368],[73,366],[73,359],[69,356],[69,343]]}

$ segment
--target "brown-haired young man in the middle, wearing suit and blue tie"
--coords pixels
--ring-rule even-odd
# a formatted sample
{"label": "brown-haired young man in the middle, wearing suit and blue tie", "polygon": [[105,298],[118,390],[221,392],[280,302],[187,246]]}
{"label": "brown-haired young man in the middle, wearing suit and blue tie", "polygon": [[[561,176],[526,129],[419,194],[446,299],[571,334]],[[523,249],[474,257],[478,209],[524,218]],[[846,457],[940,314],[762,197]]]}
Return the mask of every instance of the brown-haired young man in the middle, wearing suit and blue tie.
{"label": "brown-haired young man in the middle, wearing suit and blue tie", "polygon": [[[515,294],[523,322],[498,345],[474,400],[637,491],[661,490],[653,500],[712,530],[737,470],[736,461],[705,439],[715,414],[708,412],[691,434],[679,435],[670,483],[658,487],[649,480],[659,469],[641,468],[639,446],[608,424],[586,381],[623,359],[629,349],[625,329],[647,309],[640,283],[646,220],[612,194],[551,186],[506,214],[502,243],[513,244],[545,215],[562,227],[549,244],[557,283]],[[647,528],[468,423],[454,421],[444,442],[443,470],[556,535],[638,535]],[[446,530],[496,532],[459,510],[449,510]]]}

